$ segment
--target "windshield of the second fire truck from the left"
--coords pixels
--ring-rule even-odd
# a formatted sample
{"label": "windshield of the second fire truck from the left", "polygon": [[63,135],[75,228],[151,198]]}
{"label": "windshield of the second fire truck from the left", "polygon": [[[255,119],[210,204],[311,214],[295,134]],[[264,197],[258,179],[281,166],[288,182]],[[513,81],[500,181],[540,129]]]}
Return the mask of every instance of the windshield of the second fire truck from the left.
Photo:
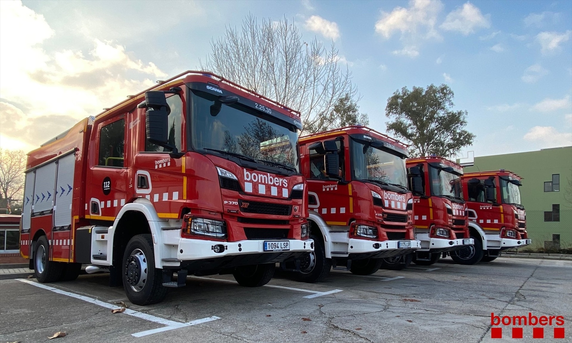
{"label": "windshield of the second fire truck from the left", "polygon": [[352,178],[377,181],[407,190],[405,159],[390,151],[352,140]]}

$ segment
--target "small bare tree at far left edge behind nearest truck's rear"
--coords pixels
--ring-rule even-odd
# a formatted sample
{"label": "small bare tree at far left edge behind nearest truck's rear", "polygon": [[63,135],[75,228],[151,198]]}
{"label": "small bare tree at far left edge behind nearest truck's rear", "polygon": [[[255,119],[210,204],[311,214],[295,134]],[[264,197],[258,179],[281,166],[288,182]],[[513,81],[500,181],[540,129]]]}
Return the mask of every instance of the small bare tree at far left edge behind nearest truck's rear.
{"label": "small bare tree at far left edge behind nearest truck's rear", "polygon": [[26,154],[23,151],[0,149],[0,192],[7,202],[6,208],[10,208],[10,201],[22,198],[25,169]]}

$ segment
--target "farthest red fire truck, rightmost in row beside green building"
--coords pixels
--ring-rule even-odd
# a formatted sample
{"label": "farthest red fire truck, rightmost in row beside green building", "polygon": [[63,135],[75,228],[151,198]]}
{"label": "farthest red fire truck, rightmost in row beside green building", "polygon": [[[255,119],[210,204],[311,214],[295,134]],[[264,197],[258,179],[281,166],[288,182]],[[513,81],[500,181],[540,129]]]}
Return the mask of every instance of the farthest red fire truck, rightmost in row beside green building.
{"label": "farthest red fire truck, rightmost in row beside green building", "polygon": [[458,263],[490,262],[501,251],[530,244],[526,212],[521,204],[521,177],[503,169],[464,174],[463,196],[468,207],[468,226],[474,246],[451,254]]}

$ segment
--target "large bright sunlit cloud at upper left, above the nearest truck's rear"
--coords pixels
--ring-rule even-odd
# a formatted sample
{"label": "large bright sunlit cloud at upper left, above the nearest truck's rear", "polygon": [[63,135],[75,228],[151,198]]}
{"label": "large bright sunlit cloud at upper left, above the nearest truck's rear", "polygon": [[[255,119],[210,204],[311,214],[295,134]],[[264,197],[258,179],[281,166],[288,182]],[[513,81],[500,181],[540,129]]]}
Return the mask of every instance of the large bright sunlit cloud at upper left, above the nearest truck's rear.
{"label": "large bright sunlit cloud at upper left, above the nearest truck's rear", "polygon": [[47,140],[46,135],[57,135],[153,85],[149,77],[166,76],[152,62],[133,58],[123,46],[97,39],[86,54],[47,53],[43,44],[53,34],[45,18],[20,1],[0,1],[3,141],[37,146]]}

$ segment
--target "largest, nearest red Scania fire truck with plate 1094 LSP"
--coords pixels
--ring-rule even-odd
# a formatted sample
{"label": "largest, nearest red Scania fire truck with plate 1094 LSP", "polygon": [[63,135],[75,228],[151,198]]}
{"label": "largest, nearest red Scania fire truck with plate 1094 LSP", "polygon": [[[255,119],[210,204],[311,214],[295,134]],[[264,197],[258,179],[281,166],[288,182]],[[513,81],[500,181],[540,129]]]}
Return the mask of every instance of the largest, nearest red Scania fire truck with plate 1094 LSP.
{"label": "largest, nearest red Scania fire truck with plate 1094 LSP", "polygon": [[28,154],[21,254],[38,281],[87,263],[145,305],[188,274],[261,286],[313,250],[299,113],[211,73],[158,83]]}

